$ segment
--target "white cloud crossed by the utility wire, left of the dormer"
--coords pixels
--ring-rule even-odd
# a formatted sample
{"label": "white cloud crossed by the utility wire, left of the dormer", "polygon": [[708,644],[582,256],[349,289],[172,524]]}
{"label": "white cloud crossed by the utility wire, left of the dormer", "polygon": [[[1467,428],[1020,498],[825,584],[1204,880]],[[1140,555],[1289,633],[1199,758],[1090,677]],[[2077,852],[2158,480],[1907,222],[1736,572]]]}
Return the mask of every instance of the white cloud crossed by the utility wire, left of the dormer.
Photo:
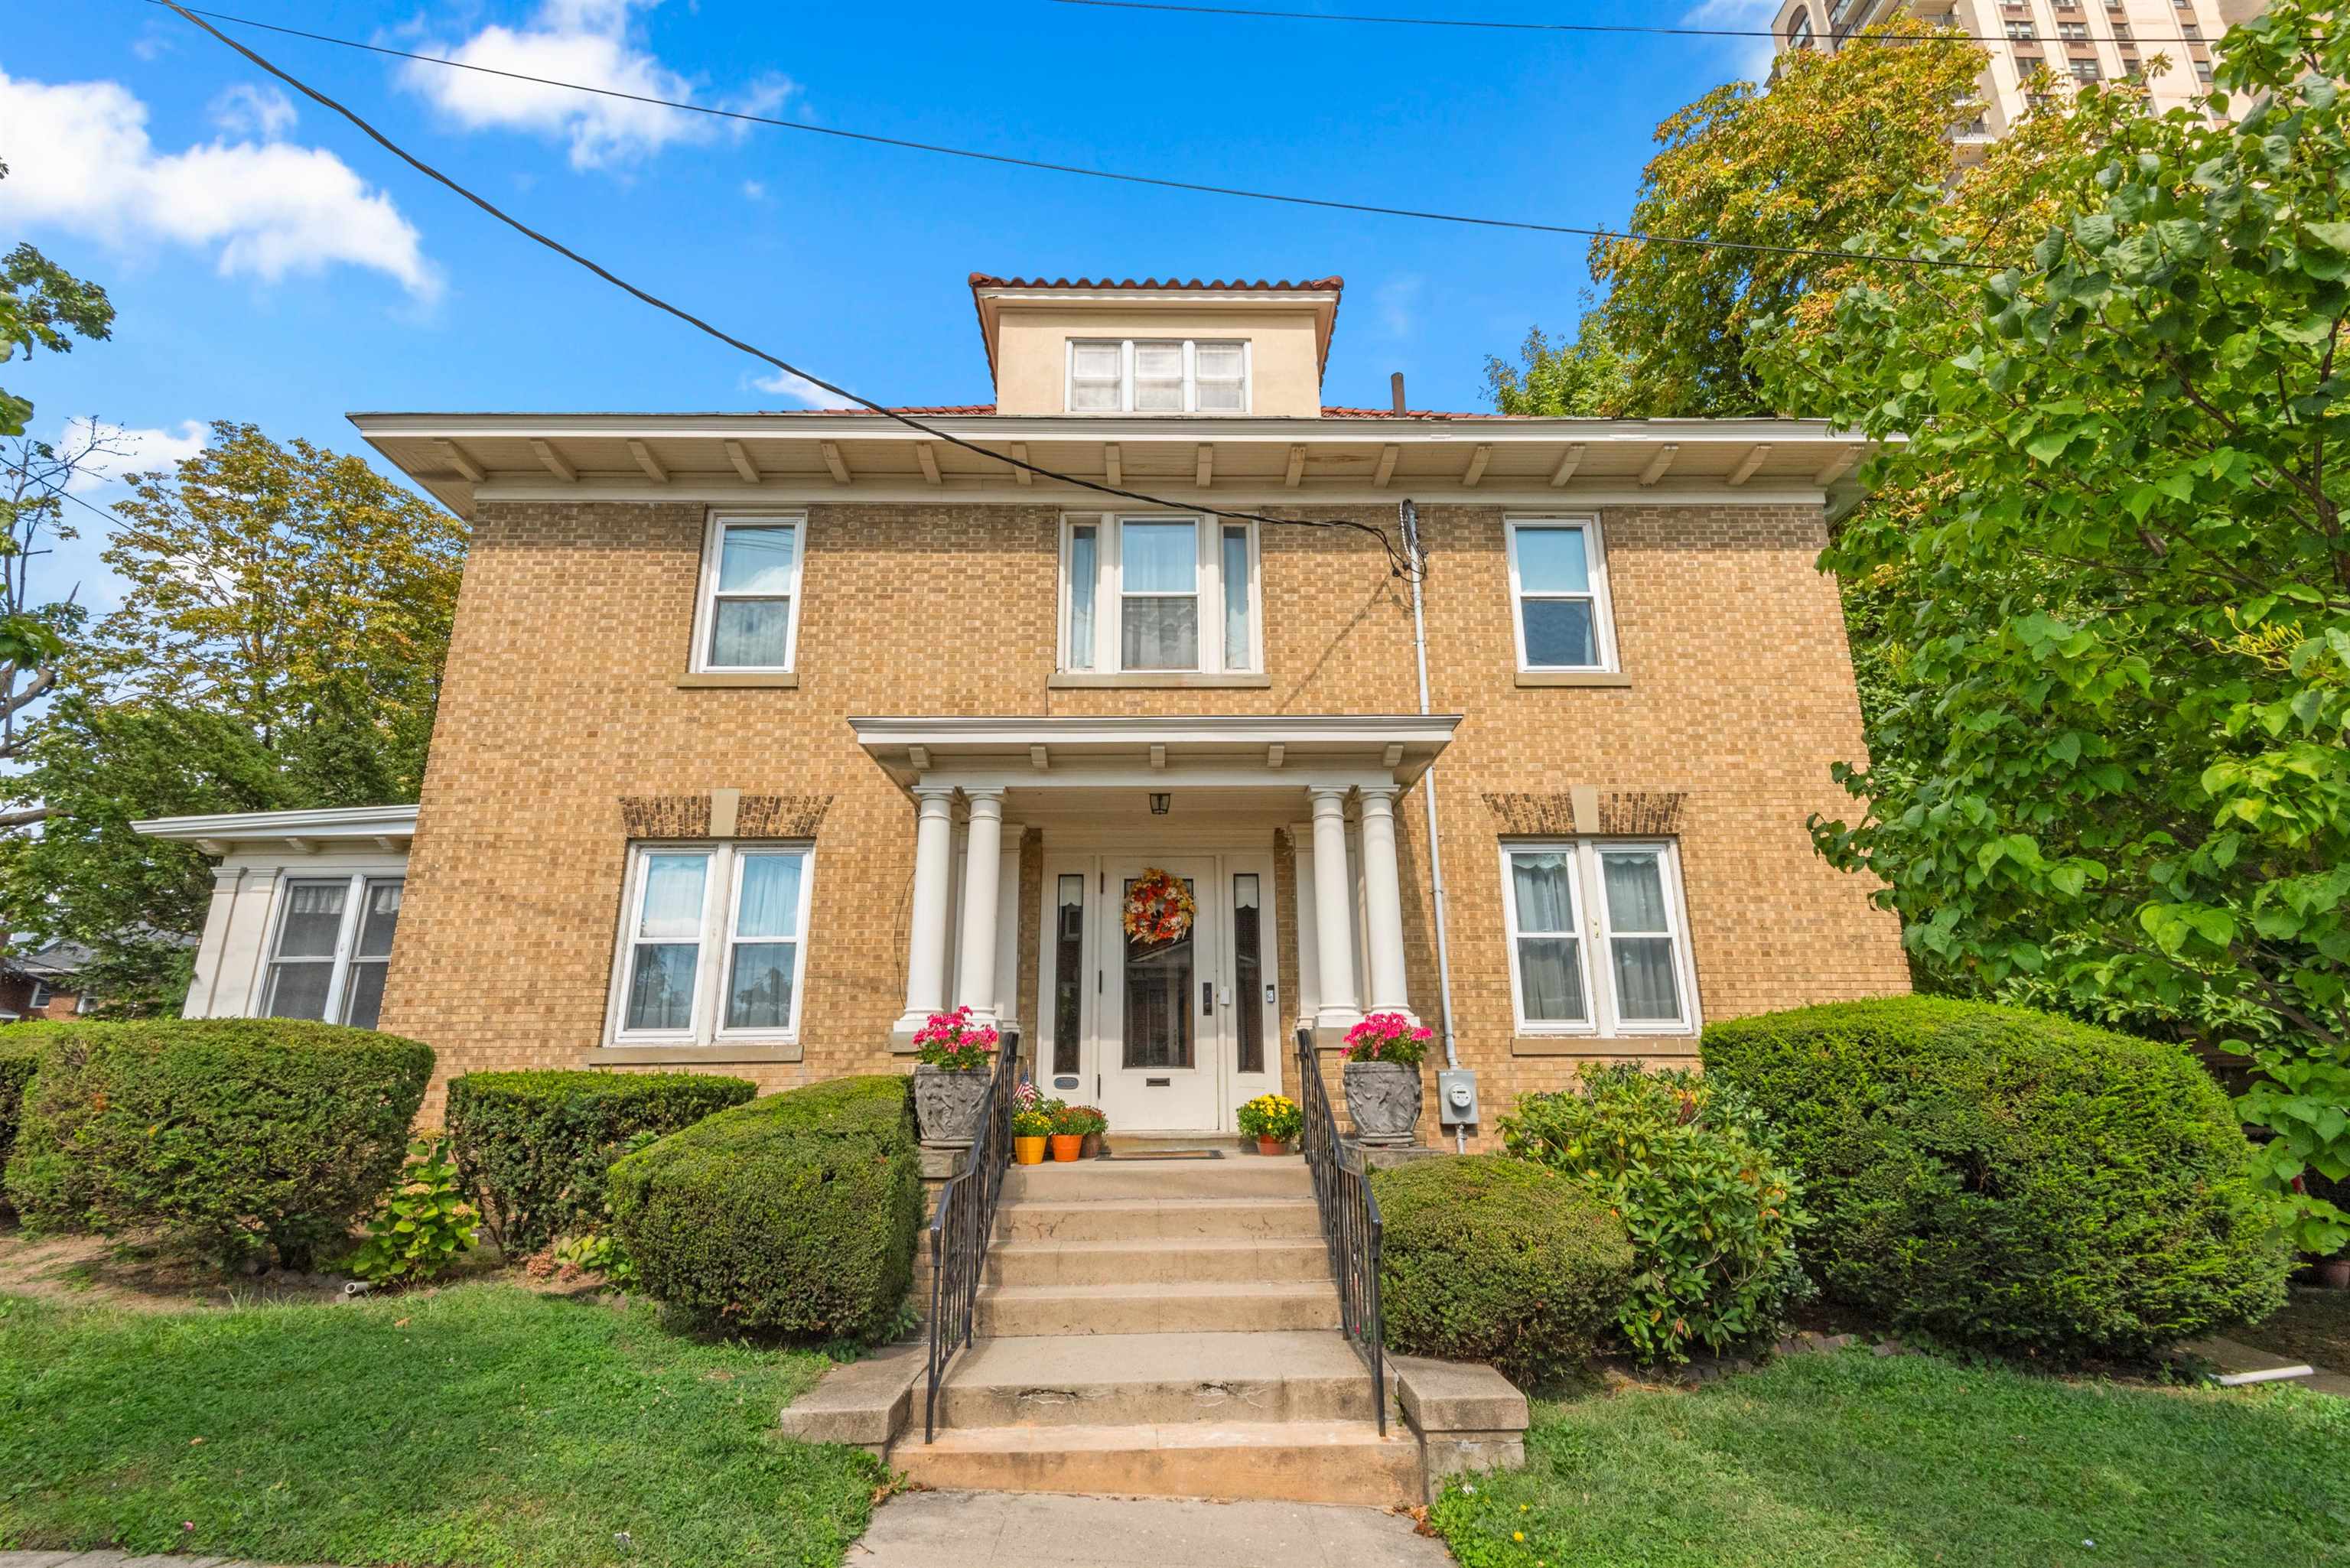
{"label": "white cloud crossed by the utility wire, left of the dormer", "polygon": [[[634,35],[632,14],[660,0],[545,0],[538,14],[508,28],[491,24],[461,45],[425,42],[421,54],[439,54],[486,71],[512,71],[552,82],[580,82],[646,99],[693,103],[696,87],[663,66]],[[421,94],[465,129],[517,129],[562,136],[571,143],[573,169],[602,169],[658,153],[672,141],[710,141],[721,122],[660,103],[632,103],[566,87],[517,82],[482,71],[451,71],[407,61],[400,85]],[[719,103],[740,113],[771,115],[797,92],[790,78],[764,75],[743,99]],[[743,125],[733,132],[740,134]]]}

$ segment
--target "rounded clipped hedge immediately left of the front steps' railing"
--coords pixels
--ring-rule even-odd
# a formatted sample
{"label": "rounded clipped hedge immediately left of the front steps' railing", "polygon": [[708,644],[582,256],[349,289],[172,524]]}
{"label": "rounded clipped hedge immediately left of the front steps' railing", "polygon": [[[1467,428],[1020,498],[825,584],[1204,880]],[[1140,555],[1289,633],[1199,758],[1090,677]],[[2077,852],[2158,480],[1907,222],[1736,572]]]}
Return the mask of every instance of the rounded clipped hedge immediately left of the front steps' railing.
{"label": "rounded clipped hedge immediately left of the front steps' railing", "polygon": [[611,1168],[637,1279],[693,1316],[879,1340],[914,1281],[912,1079],[834,1079],[672,1133]]}

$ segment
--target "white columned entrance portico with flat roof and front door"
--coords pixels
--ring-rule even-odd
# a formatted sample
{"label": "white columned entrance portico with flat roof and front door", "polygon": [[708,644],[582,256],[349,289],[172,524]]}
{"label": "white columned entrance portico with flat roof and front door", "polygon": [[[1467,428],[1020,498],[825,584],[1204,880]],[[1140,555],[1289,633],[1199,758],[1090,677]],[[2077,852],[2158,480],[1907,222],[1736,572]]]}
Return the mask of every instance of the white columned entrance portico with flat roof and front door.
{"label": "white columned entrance portico with flat roof and front door", "polygon": [[[905,1046],[938,1011],[1013,1013],[1036,983],[1034,1063],[1128,1131],[1229,1128],[1281,1088],[1288,1027],[1323,1039],[1410,1013],[1396,799],[1450,715],[851,719],[914,797]],[[1036,952],[1022,954],[1020,844],[1041,842]],[[1297,990],[1278,994],[1276,835],[1292,853]],[[1123,896],[1149,872],[1196,905],[1142,943]],[[1008,926],[1008,929],[1006,929]]]}

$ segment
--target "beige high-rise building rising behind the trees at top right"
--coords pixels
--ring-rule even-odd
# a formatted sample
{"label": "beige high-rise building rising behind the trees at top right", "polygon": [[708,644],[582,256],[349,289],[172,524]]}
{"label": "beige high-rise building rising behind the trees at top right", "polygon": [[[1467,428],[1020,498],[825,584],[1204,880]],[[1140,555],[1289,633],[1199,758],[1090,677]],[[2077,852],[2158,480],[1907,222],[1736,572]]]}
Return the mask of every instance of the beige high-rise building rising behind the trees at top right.
{"label": "beige high-rise building rising behind the trees at top right", "polygon": [[[1904,9],[1925,26],[1962,28],[1990,52],[1983,113],[1953,129],[1965,162],[2023,118],[2042,68],[2075,82],[2146,78],[2155,108],[2193,103],[2211,89],[2211,40],[2268,0],[1781,0],[1779,52],[1835,52]],[[2157,56],[2164,71],[2150,68]]]}

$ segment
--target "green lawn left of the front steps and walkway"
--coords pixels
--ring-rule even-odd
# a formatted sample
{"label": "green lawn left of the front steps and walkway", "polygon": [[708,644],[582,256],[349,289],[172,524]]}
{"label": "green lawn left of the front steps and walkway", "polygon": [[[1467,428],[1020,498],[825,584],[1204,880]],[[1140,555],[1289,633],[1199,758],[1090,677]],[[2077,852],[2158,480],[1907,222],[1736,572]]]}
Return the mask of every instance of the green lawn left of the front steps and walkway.
{"label": "green lawn left of the front steps and walkway", "polygon": [[0,1298],[0,1547],[832,1568],[884,1476],[776,1436],[822,1368],[510,1284],[174,1314]]}

